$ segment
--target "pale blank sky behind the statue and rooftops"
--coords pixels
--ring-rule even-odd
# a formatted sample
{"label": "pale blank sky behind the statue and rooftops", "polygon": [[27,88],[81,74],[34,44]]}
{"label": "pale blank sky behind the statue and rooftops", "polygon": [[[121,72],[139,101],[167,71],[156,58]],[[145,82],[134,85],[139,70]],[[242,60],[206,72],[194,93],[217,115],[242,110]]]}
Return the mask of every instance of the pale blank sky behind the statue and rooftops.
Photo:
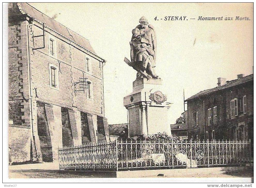
{"label": "pale blank sky behind the statue and rooftops", "polygon": [[[234,80],[253,73],[252,3],[29,3],[88,39],[103,67],[105,117],[109,124],[127,122],[123,97],[132,92],[136,71],[130,59],[131,31],[145,16],[156,31],[156,72],[163,80],[172,124],[185,99],[217,86],[217,78]],[[158,20],[154,20],[157,16]],[[165,16],[187,16],[164,21]],[[200,21],[221,17],[222,21]],[[250,20],[238,21],[236,16]],[[225,17],[234,17],[224,21]],[[163,20],[161,20],[161,18]],[[195,18],[195,19],[191,19]],[[188,19],[188,20],[187,20]]]}

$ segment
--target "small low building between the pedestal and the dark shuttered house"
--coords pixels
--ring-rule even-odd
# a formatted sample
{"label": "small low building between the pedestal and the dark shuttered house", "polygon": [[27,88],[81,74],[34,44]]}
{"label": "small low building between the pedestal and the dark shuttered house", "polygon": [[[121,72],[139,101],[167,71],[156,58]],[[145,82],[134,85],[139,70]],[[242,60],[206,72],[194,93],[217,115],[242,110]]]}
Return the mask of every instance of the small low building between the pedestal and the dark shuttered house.
{"label": "small low building between the pedestal and the dark shuttered house", "polygon": [[171,124],[172,136],[177,136],[182,140],[188,139],[188,111],[182,113],[183,123]]}

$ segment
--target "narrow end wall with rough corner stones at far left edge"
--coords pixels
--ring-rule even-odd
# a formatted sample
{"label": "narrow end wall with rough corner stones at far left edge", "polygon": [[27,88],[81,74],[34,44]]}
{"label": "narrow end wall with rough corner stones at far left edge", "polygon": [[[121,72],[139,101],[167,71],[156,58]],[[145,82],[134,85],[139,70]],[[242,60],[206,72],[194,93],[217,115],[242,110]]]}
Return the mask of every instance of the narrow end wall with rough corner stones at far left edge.
{"label": "narrow end wall with rough corner stones at far left edge", "polygon": [[[27,57],[27,20],[16,3],[8,6],[9,67],[9,151],[11,162],[33,160],[34,140],[31,131],[29,74]],[[33,155],[32,155],[33,152]],[[36,160],[36,159],[35,159]]]}

